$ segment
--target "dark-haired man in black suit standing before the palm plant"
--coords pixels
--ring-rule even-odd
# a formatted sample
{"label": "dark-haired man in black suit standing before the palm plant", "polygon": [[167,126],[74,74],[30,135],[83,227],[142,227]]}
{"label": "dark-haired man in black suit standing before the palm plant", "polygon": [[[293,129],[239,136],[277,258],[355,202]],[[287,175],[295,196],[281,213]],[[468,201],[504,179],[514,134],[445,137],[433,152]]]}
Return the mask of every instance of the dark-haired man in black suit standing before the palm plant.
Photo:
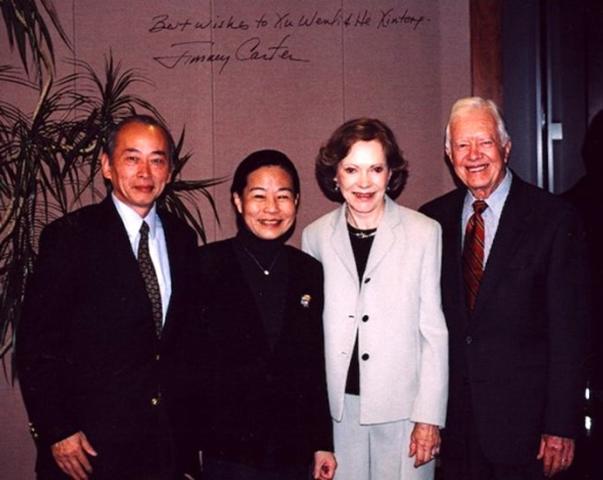
{"label": "dark-haired man in black suit standing before the palm plant", "polygon": [[173,155],[155,119],[123,120],[101,158],[112,193],[42,232],[17,332],[40,479],[175,478],[167,409],[196,240],[156,204]]}

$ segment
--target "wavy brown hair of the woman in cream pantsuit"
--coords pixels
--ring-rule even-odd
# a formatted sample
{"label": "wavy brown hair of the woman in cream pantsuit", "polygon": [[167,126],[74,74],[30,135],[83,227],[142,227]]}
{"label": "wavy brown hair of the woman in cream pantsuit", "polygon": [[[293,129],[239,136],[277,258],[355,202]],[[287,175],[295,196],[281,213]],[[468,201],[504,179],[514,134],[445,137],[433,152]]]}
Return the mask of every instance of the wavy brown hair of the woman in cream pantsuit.
{"label": "wavy brown hair of the woman in cream pantsuit", "polygon": [[343,203],[344,198],[336,186],[337,165],[349,153],[356,142],[377,140],[383,147],[391,177],[387,184],[387,195],[396,199],[408,178],[408,162],[402,156],[398,142],[391,129],[376,118],[356,118],[341,125],[323,145],[316,157],[316,180],[329,200]]}

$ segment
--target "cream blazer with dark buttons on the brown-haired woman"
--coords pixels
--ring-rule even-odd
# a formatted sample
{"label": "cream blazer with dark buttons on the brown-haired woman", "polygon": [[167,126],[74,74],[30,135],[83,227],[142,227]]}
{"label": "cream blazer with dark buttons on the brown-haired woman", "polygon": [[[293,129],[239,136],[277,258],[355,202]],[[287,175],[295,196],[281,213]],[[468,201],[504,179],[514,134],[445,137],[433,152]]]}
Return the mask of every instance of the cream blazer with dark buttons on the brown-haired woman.
{"label": "cream blazer with dark buttons on the brown-haired woman", "polygon": [[331,415],[343,398],[356,331],[360,422],[410,419],[444,426],[448,331],[440,299],[441,229],[386,197],[362,285],[342,205],[304,229],[302,249],[324,269]]}

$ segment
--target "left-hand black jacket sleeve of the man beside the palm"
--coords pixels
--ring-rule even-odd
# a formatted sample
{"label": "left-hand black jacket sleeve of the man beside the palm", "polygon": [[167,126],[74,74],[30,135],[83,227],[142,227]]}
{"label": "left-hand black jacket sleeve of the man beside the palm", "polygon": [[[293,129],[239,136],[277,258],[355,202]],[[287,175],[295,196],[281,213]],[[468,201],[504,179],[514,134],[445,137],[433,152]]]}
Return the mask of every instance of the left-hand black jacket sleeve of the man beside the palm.
{"label": "left-hand black jacket sleeve of the man beside the palm", "polygon": [[68,332],[77,285],[77,242],[67,221],[46,227],[17,330],[17,372],[34,439],[51,445],[77,432],[71,412]]}

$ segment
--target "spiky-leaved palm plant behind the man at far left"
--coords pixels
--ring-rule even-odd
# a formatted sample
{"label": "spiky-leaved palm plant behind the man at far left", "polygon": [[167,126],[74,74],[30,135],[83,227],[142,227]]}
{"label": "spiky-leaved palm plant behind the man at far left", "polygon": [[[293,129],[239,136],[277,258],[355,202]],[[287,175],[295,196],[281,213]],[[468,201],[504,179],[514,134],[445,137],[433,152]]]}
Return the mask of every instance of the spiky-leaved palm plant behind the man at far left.
{"label": "spiky-leaved palm plant behind the man at far left", "polygon": [[[55,78],[50,28],[68,47],[70,43],[51,0],[0,0],[0,9],[9,45],[18,50],[21,63],[20,68],[0,65],[0,83],[17,84],[35,98],[32,113],[0,98],[0,359],[4,359],[13,345],[40,230],[101,194],[99,155],[113,124],[134,111],[162,117],[148,101],[131,93],[137,83],[148,80],[122,68],[111,54],[102,74],[75,60],[76,73]],[[217,218],[208,188],[222,179],[182,180],[182,168],[191,158],[183,146],[184,130],[176,141],[172,182],[161,202],[205,242],[198,197],[209,202]]]}

